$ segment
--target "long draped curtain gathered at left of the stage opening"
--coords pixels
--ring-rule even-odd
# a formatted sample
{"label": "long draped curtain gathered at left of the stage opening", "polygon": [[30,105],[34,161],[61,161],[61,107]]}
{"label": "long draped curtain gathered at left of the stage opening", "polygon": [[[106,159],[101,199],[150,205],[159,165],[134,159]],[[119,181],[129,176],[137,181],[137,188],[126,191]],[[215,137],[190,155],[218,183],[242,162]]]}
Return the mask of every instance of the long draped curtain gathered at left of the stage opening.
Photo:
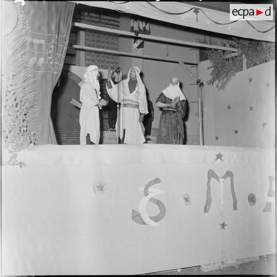
{"label": "long draped curtain gathered at left of the stage opening", "polygon": [[29,126],[37,144],[57,144],[51,121],[52,93],[63,69],[75,3],[25,1],[31,24],[30,64],[38,85],[36,121]]}

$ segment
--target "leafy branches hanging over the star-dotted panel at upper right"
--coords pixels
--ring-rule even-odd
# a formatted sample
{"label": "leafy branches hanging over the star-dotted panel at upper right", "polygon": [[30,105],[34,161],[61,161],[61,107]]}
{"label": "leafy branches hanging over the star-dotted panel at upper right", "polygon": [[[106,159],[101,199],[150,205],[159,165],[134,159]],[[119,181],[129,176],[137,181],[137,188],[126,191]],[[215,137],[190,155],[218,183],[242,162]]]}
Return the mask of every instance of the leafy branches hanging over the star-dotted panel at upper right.
{"label": "leafy branches hanging over the star-dotted panel at upper right", "polygon": [[[237,48],[238,52],[208,49],[205,54],[211,63],[211,79],[209,85],[216,83],[218,90],[224,90],[235,74],[242,70],[243,59],[246,68],[268,63],[275,59],[275,44],[262,41],[233,38],[229,47]],[[223,46],[223,45],[222,45]]]}

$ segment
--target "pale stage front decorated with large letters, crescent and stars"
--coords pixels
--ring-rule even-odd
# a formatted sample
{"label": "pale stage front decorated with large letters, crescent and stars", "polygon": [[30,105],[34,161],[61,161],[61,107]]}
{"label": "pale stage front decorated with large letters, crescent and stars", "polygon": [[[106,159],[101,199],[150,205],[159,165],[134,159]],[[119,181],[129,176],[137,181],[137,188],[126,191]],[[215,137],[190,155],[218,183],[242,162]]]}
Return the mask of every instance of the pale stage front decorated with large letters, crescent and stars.
{"label": "pale stage front decorated with large letters, crescent and stars", "polygon": [[2,152],[2,275],[137,275],[275,253],[275,149]]}

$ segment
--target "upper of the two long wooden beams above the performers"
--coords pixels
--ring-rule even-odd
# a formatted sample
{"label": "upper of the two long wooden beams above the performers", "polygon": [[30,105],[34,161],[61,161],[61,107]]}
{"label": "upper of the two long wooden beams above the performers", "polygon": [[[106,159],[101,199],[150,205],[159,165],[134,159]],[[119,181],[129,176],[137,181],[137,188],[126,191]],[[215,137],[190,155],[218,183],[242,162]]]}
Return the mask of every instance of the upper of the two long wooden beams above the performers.
{"label": "upper of the two long wooden beams above the performers", "polygon": [[217,46],[217,45],[209,45],[209,44],[204,44],[204,43],[183,41],[183,40],[156,37],[156,36],[143,35],[143,34],[138,34],[138,36],[135,36],[135,34],[132,32],[115,30],[115,29],[99,27],[99,26],[94,26],[94,25],[89,25],[89,24],[84,24],[84,23],[78,23],[78,22],[72,22],[72,25],[79,27],[79,28],[113,33],[113,34],[118,34],[121,36],[133,37],[133,38],[141,38],[141,39],[150,40],[150,41],[158,41],[158,42],[163,42],[163,43],[167,42],[167,43],[171,43],[171,44],[184,45],[184,46],[189,46],[189,47],[194,47],[194,48],[210,48],[210,49],[220,49],[220,50],[225,50],[225,51],[238,52],[238,49],[236,49],[236,48],[223,47],[223,46]]}

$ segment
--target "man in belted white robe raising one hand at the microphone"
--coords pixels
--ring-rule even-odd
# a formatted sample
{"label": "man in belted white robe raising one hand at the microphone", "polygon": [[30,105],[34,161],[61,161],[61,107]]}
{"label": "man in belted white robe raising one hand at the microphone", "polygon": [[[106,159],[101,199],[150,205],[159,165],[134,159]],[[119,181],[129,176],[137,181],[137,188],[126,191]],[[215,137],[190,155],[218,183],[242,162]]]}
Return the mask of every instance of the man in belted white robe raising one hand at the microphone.
{"label": "man in belted white robe raising one hand at the microphone", "polygon": [[118,101],[119,86],[119,103],[121,103],[119,138],[123,139],[125,130],[123,143],[127,144],[145,142],[142,121],[148,110],[145,87],[139,73],[138,67],[132,67],[129,69],[127,79],[115,85],[111,79],[111,71],[109,71],[106,84],[107,92],[115,102]]}

